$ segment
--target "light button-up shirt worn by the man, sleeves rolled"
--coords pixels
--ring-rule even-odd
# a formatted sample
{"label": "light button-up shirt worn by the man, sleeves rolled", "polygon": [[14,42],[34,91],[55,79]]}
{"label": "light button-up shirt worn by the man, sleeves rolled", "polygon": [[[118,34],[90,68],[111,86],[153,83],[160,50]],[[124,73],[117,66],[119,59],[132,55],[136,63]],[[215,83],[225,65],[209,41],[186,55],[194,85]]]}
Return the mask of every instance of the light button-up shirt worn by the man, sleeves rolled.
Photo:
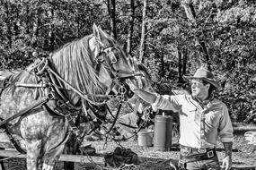
{"label": "light button-up shirt worn by the man, sleeves rolled", "polygon": [[213,98],[204,104],[190,95],[158,95],[154,107],[180,115],[180,144],[191,148],[212,148],[219,136],[222,142],[234,140],[227,107]]}

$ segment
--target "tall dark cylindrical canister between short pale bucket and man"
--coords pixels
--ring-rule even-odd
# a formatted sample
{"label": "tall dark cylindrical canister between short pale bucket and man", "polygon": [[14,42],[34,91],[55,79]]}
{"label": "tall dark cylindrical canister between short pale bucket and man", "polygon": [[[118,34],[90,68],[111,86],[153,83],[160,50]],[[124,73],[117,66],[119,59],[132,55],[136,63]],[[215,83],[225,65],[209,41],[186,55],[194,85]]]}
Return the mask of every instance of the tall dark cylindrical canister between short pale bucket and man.
{"label": "tall dark cylindrical canister between short pale bucket and man", "polygon": [[170,151],[172,146],[172,116],[156,115],[154,118],[154,149]]}

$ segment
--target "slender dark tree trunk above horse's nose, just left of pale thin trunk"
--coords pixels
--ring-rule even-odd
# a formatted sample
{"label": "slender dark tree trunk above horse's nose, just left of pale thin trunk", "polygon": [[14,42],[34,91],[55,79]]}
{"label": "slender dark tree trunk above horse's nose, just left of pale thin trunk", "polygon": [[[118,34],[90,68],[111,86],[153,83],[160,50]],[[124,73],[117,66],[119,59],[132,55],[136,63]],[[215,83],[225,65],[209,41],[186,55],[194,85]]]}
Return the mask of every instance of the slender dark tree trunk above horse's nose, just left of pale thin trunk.
{"label": "slender dark tree trunk above horse's nose, just left of pale thin trunk", "polygon": [[132,36],[133,36],[133,27],[134,27],[134,15],[135,15],[134,0],[130,0],[128,47],[127,47],[128,55],[131,55]]}

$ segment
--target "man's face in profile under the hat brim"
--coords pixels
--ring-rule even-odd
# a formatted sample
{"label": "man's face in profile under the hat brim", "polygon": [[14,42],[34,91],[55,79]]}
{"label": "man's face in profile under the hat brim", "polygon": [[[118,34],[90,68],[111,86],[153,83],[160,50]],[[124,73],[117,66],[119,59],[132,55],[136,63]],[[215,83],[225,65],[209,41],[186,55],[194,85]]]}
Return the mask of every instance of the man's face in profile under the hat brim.
{"label": "man's face in profile under the hat brim", "polygon": [[202,80],[193,79],[190,81],[192,97],[201,100],[207,98],[209,84],[204,85]]}

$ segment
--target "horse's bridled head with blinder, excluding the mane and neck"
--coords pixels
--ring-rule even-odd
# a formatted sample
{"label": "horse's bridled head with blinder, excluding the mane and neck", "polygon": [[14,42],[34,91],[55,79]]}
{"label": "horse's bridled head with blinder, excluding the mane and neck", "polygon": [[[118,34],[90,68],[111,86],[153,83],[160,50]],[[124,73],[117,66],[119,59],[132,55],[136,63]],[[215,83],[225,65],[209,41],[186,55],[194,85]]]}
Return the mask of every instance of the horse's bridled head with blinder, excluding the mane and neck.
{"label": "horse's bridled head with blinder, excluding the mane and neck", "polygon": [[89,47],[94,54],[93,67],[95,68],[99,81],[109,89],[107,93],[125,93],[131,98],[133,93],[126,83],[134,79],[135,67],[114,38],[111,38],[101,28],[93,25],[92,38]]}

